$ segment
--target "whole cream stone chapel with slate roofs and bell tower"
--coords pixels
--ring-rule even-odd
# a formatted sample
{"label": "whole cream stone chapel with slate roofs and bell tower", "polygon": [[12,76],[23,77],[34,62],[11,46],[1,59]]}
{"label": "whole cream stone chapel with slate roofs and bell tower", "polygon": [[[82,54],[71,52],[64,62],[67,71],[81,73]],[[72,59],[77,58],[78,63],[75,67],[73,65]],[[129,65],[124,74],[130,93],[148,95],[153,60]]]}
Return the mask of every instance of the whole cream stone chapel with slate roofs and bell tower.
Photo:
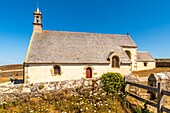
{"label": "whole cream stone chapel with slate roofs and bell tower", "polygon": [[24,61],[24,82],[53,82],[100,77],[103,73],[155,68],[148,52],[138,52],[129,34],[43,30],[42,13],[34,14],[33,33]]}

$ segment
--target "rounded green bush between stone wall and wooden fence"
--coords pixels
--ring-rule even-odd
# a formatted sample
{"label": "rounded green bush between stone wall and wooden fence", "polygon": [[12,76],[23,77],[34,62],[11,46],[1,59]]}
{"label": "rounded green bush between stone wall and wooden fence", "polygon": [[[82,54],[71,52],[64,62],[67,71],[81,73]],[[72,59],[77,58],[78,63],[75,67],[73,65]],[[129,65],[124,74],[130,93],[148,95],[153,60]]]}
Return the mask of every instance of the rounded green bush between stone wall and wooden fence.
{"label": "rounded green bush between stone wall and wooden fence", "polygon": [[103,89],[107,93],[120,93],[124,86],[124,78],[120,73],[105,73],[102,75],[102,81],[104,83]]}

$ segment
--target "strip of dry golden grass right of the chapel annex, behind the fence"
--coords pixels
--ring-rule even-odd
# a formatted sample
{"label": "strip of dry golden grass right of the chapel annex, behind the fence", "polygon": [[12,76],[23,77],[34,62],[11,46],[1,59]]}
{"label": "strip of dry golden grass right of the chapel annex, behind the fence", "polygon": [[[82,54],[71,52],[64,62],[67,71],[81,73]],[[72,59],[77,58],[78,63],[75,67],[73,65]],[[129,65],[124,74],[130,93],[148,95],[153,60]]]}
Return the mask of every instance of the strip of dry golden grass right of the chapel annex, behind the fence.
{"label": "strip of dry golden grass right of the chapel annex, behind the fence", "polygon": [[139,77],[146,77],[149,76],[151,73],[159,73],[159,72],[167,72],[170,71],[168,67],[162,68],[154,68],[150,70],[143,70],[143,71],[134,71],[132,74],[138,75]]}

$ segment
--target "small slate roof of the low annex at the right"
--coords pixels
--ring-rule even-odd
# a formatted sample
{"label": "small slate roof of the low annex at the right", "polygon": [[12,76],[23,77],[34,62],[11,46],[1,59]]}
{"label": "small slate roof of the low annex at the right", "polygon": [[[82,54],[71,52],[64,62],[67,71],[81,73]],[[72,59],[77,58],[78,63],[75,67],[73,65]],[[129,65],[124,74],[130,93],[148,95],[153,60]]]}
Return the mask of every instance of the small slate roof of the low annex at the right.
{"label": "small slate roof of the low annex at the right", "polygon": [[137,52],[138,62],[155,62],[155,59],[151,56],[149,52]]}

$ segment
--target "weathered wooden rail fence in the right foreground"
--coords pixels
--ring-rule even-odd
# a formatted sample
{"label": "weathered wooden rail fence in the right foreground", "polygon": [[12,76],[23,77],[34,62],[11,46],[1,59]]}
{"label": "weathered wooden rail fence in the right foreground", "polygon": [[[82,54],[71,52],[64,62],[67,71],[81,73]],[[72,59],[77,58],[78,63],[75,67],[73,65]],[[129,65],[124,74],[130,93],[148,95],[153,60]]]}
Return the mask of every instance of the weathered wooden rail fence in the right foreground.
{"label": "weathered wooden rail fence in the right foreground", "polygon": [[[136,86],[138,88],[143,88],[143,89],[146,89],[150,92],[155,92],[157,93],[157,102],[154,102],[154,101],[151,101],[151,100],[148,100],[148,99],[144,99],[144,98],[141,98],[139,97],[138,95],[134,94],[134,93],[131,93],[130,91],[126,91],[126,86],[127,84],[129,85],[132,85],[132,86]],[[130,81],[126,81],[125,82],[125,93],[133,98],[136,98],[146,104],[149,104],[153,107],[156,107],[157,108],[157,113],[161,113],[161,112],[167,112],[167,113],[170,113],[170,109],[164,107],[165,105],[165,98],[164,98],[164,95],[166,96],[170,96],[170,92],[169,91],[165,91],[163,90],[163,87],[161,86],[160,83],[158,83],[157,85],[158,87],[150,87],[150,86],[145,86],[145,85],[141,85],[141,84],[137,84],[137,83],[134,83],[134,82],[130,82]]]}

